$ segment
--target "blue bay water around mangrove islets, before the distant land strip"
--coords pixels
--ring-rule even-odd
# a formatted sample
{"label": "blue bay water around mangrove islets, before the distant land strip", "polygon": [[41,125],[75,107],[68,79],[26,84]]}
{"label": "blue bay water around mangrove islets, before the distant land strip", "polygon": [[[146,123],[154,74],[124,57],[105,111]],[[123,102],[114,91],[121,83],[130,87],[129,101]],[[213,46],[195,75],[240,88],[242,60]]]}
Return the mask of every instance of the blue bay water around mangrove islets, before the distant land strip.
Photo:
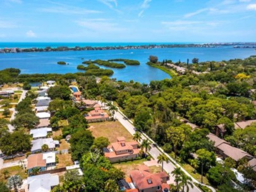
{"label": "blue bay water around mangrove islets, before the distant land strip", "polygon": [[[141,44],[141,43],[140,43]],[[44,47],[44,46],[43,46]],[[113,69],[111,78],[123,81],[138,81],[149,83],[151,80],[163,80],[170,78],[160,69],[152,68],[146,63],[150,55],[158,56],[159,61],[171,59],[173,61],[186,62],[186,59],[194,57],[199,61],[222,61],[235,58],[246,58],[255,55],[254,49],[233,49],[232,47],[216,48],[163,48],[163,49],[123,49],[123,50],[99,50],[99,51],[64,51],[64,52],[21,52],[0,54],[0,69],[19,68],[21,73],[75,73],[78,64],[88,59],[136,59],[140,66],[126,66],[124,69]],[[81,58],[84,58],[82,60]],[[65,61],[68,65],[57,64]],[[107,68],[100,66],[101,68]]]}

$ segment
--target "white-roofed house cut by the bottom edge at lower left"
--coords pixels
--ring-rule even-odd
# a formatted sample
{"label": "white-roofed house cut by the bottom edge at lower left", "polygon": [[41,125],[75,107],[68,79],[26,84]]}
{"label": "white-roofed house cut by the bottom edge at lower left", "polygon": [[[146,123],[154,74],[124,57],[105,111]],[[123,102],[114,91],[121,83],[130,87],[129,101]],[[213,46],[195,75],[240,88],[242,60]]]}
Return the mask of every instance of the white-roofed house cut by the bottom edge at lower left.
{"label": "white-roofed house cut by the bottom edge at lower left", "polygon": [[59,184],[59,176],[42,174],[39,176],[28,177],[28,192],[50,192],[54,186]]}

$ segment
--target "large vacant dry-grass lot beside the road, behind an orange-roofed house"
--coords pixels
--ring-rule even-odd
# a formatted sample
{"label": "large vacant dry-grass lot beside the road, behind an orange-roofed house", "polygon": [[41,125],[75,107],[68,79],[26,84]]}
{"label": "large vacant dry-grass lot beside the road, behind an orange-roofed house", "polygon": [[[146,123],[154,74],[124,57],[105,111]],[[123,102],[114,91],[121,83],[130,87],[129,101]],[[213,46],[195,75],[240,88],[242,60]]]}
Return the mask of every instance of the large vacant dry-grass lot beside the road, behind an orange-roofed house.
{"label": "large vacant dry-grass lot beside the road, behind an orange-roofed house", "polygon": [[119,121],[105,121],[101,123],[90,123],[89,130],[95,138],[105,136],[111,143],[116,142],[118,136],[125,136],[126,141],[132,141],[133,136],[123,127]]}

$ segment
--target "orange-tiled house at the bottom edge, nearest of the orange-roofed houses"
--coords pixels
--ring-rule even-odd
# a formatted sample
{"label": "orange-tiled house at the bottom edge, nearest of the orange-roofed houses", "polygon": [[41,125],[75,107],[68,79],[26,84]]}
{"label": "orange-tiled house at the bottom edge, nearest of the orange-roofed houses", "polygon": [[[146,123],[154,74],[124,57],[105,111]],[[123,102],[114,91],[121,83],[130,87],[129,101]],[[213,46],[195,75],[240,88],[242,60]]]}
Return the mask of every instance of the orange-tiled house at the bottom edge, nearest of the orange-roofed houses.
{"label": "orange-tiled house at the bottom edge, nearest of the orange-roofed houses", "polygon": [[169,191],[169,185],[167,184],[169,176],[166,172],[152,174],[149,172],[149,167],[144,167],[147,166],[130,172],[131,181],[138,192]]}

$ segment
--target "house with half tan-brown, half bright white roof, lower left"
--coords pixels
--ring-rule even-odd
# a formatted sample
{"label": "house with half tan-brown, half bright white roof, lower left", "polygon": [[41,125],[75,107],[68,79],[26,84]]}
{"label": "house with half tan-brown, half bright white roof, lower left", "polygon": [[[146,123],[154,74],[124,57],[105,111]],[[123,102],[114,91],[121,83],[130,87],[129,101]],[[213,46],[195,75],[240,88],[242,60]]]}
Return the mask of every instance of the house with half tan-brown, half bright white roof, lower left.
{"label": "house with half tan-brown, half bright white roof, lower left", "polygon": [[32,172],[33,168],[39,168],[40,171],[47,171],[56,165],[56,153],[36,153],[28,156],[27,160],[28,175]]}

